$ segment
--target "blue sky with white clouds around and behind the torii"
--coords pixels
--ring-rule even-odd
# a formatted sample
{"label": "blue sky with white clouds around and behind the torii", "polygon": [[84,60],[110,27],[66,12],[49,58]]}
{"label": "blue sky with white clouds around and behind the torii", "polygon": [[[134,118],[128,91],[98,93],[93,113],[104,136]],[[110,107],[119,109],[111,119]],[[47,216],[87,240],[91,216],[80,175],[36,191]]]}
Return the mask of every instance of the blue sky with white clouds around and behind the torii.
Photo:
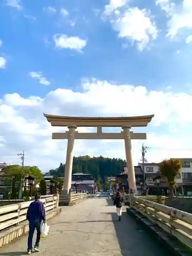
{"label": "blue sky with white clouds around and behind the torii", "polygon": [[[154,114],[133,158],[192,157],[191,0],[1,0],[0,162],[46,172],[65,163],[43,113]],[[81,127],[78,131],[95,131]],[[119,129],[103,129],[120,132]],[[76,140],[74,155],[125,159],[121,140]]]}

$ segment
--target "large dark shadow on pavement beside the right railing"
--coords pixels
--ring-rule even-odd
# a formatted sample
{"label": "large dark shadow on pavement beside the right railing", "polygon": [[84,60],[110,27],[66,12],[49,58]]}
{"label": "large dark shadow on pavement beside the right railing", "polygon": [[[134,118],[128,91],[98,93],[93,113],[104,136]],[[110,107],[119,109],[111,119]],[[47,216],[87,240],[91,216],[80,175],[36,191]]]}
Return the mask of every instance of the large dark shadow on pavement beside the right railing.
{"label": "large dark shadow on pavement beside the right railing", "polygon": [[126,212],[123,212],[121,221],[116,212],[106,214],[112,217],[122,256],[168,256],[168,252],[162,249],[158,241],[127,216]]}

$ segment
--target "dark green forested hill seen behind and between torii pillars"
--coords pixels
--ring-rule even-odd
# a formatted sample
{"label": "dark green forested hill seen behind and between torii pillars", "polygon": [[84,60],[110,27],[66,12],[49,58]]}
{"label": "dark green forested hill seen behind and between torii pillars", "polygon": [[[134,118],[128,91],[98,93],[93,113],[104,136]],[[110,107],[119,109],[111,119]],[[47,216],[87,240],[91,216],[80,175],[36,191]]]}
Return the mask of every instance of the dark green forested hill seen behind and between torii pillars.
{"label": "dark green forested hill seen behind and between torii pillars", "polygon": [[[100,176],[104,182],[104,177],[116,176],[122,172],[122,167],[126,165],[125,160],[120,158],[90,157],[79,156],[73,157],[73,173],[93,174],[95,179]],[[57,177],[63,177],[65,164],[60,163],[56,169],[51,169],[47,174]]]}

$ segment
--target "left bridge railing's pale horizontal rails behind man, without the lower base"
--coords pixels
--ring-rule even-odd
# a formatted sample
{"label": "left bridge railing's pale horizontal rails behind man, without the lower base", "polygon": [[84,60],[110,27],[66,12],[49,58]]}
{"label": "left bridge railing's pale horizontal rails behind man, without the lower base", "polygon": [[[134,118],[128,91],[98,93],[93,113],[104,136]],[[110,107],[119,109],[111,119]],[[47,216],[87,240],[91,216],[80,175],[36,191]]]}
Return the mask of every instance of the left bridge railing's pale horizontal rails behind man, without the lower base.
{"label": "left bridge railing's pale horizontal rails behind man, without the lower base", "polygon": [[[41,201],[45,205],[46,212],[58,208],[57,196],[42,197]],[[27,209],[32,201],[10,204],[0,207],[0,231],[13,225],[19,225],[26,220]]]}

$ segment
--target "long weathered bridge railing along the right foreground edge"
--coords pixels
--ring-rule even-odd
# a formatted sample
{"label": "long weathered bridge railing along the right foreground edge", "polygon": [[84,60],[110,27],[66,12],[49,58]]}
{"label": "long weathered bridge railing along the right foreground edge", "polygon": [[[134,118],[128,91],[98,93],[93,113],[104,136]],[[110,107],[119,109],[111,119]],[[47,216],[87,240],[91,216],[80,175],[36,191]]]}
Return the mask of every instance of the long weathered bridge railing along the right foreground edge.
{"label": "long weathered bridge railing along the right foreground edge", "polygon": [[141,197],[134,197],[132,207],[182,243],[192,247],[192,214]]}

